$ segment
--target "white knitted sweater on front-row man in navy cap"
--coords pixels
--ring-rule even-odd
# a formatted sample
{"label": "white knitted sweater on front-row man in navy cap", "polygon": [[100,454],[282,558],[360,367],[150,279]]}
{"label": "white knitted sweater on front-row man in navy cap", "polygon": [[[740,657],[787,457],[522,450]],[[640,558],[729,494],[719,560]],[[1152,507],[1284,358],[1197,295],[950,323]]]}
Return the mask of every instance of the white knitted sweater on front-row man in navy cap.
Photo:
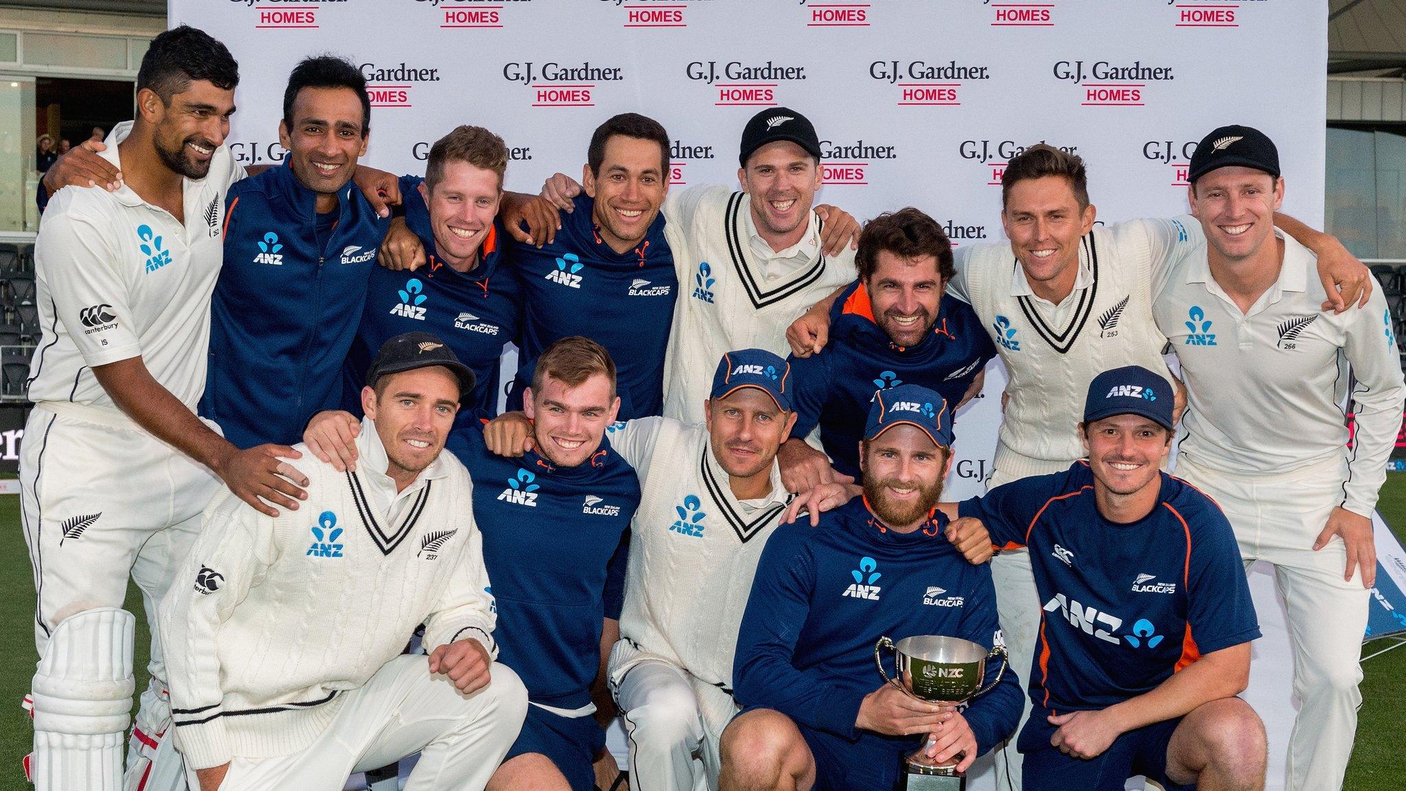
{"label": "white knitted sweater on front-row man in navy cap", "polygon": [[610,446],[640,474],[620,636],[640,649],[612,674],[662,659],[733,690],[733,653],[762,548],[790,494],[772,460],[772,491],[741,502],[703,424],[640,418],[616,424]]}

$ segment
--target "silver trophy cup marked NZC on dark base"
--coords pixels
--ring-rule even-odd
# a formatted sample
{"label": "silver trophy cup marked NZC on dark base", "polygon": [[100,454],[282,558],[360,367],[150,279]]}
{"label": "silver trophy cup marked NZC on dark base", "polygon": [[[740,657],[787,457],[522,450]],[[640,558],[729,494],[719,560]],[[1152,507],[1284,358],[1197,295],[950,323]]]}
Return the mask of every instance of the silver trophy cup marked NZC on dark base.
{"label": "silver trophy cup marked NZC on dark base", "polygon": [[[883,649],[889,649],[894,654],[897,678],[890,678],[883,669]],[[995,678],[983,687],[986,660],[997,656],[1001,657],[1001,669]],[[879,638],[879,642],[875,643],[875,664],[879,666],[879,674],[883,676],[884,681],[914,698],[957,705],[995,687],[1001,681],[1001,676],[1005,674],[1010,660],[1005,656],[1005,646],[995,646],[988,652],[980,645],[960,638],[918,635],[904,638],[897,645],[889,638]],[[938,766],[925,754],[932,742],[929,736],[921,750],[907,757],[900,788],[910,791],[965,790],[966,774],[956,768],[960,756],[952,759],[949,764]]]}

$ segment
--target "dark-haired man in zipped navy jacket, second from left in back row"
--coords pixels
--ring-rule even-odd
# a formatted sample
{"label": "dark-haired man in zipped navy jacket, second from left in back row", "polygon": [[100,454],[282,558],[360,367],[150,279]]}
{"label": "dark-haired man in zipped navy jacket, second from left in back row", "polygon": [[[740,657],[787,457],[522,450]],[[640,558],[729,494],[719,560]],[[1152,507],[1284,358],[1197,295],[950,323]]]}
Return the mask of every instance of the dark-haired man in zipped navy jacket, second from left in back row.
{"label": "dark-haired man in zipped navy jacket, second from left in back row", "polygon": [[388,222],[352,183],[370,121],[360,69],[307,58],[283,97],[288,156],[229,190],[201,414],[240,448],[297,442],[312,415],[342,403]]}

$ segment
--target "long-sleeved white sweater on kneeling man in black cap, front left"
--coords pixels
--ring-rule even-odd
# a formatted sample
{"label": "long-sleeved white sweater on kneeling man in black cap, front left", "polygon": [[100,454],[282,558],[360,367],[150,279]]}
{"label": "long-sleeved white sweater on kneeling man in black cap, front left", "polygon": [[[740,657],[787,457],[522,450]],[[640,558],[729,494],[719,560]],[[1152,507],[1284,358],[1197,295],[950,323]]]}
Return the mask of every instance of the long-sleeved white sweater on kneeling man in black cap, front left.
{"label": "long-sleeved white sweater on kneeling man in black cap, front left", "polygon": [[396,493],[370,419],[354,473],[297,448],[308,500],[270,518],[217,495],[162,601],[176,745],[195,768],[308,747],[422,622],[426,650],[495,652],[464,466],[441,453]]}

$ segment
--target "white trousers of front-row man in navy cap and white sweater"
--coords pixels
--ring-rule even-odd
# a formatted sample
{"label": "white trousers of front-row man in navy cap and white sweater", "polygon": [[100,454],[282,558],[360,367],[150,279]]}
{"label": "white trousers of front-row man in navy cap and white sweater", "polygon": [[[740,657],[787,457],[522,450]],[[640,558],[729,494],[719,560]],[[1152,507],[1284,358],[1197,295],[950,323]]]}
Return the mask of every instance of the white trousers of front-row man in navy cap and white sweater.
{"label": "white trousers of front-row man in navy cap and white sweater", "polygon": [[631,791],[709,791],[718,743],[737,714],[733,695],[662,659],[640,659],[627,640],[610,652],[612,688],[630,742]]}

